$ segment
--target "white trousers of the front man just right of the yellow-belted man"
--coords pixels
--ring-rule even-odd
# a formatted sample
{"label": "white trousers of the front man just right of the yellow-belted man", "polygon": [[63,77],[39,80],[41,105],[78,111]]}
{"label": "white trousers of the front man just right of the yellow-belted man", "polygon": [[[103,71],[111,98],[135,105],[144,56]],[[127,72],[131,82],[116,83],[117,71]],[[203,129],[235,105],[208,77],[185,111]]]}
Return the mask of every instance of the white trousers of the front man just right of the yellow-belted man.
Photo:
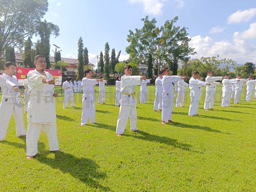
{"label": "white trousers of the front man just right of the yellow-belted man", "polygon": [[162,98],[162,121],[172,120],[173,97]]}

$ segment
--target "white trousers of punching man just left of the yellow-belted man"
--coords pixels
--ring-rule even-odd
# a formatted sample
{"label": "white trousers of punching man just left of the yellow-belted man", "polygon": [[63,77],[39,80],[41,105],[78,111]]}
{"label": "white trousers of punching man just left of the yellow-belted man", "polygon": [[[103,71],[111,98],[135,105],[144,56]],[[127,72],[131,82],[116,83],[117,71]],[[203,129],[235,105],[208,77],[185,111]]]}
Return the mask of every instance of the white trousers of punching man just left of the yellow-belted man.
{"label": "white trousers of punching man just left of the yellow-belted man", "polygon": [[81,125],[86,125],[89,117],[90,122],[95,123],[95,101],[83,102]]}

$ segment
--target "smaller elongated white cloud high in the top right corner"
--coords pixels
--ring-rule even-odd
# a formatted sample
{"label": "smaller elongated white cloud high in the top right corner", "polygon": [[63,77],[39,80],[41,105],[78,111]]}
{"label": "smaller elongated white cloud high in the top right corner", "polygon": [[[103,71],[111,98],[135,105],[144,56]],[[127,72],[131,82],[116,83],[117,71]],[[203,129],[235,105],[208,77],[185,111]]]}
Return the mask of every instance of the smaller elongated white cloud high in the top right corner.
{"label": "smaller elongated white cloud high in the top right corner", "polygon": [[248,22],[251,18],[256,16],[256,8],[251,8],[249,10],[238,10],[237,12],[234,12],[227,18],[228,24],[236,24],[236,23],[242,23],[242,22]]}

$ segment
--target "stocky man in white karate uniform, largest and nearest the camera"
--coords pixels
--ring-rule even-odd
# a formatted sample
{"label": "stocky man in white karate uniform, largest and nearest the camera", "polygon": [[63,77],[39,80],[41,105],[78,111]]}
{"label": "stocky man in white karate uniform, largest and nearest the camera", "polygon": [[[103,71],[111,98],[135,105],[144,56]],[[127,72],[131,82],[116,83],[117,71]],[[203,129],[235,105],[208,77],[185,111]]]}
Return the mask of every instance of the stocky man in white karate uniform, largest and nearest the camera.
{"label": "stocky man in white karate uniform, largest and nearest the camera", "polygon": [[56,108],[54,98],[55,80],[44,71],[46,60],[43,55],[35,56],[35,70],[27,74],[30,98],[27,108],[27,159],[37,154],[37,142],[41,129],[49,140],[50,151],[59,152],[57,139]]}

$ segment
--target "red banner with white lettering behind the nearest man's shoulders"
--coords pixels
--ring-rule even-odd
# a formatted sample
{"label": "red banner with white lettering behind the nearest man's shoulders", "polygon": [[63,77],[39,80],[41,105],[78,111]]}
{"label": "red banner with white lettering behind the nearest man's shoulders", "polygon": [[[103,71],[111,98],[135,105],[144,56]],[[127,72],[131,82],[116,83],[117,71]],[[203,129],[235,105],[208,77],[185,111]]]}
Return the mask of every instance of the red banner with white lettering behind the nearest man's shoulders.
{"label": "red banner with white lettering behind the nearest man's shoulders", "polygon": [[[19,86],[23,85],[23,80],[26,79],[26,75],[29,71],[34,70],[31,68],[23,68],[23,67],[15,67],[16,77],[19,81]],[[62,83],[62,73],[60,69],[45,69],[45,71],[49,72],[53,78],[55,78],[55,85],[61,85]]]}

